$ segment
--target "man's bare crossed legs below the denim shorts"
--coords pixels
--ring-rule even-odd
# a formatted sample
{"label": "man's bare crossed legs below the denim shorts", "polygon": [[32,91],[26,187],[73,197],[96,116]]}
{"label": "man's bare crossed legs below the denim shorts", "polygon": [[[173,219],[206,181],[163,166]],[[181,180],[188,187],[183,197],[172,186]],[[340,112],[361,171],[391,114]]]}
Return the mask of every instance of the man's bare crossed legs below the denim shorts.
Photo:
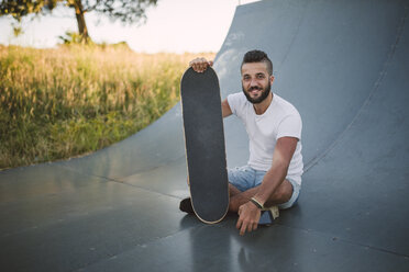
{"label": "man's bare crossed legs below the denim shorts", "polygon": [[[241,192],[234,185],[229,183],[230,190],[230,212],[239,212],[239,207],[250,201],[258,191],[258,186],[252,188],[247,191]],[[288,180],[284,180],[283,183],[277,188],[275,193],[270,195],[268,201],[265,203],[266,207],[286,203],[291,199],[292,184]]]}

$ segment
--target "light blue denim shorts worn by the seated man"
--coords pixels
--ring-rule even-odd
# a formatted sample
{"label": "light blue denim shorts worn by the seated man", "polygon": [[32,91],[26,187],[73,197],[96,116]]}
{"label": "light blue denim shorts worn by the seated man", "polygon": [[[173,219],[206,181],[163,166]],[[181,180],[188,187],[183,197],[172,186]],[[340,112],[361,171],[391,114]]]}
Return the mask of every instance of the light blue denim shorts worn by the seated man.
{"label": "light blue denim shorts worn by the seated man", "polygon": [[[236,167],[234,169],[229,169],[228,171],[229,182],[241,192],[262,184],[265,174],[266,171],[255,170],[250,166]],[[286,180],[288,180],[292,185],[292,195],[289,201],[278,205],[280,209],[286,209],[295,205],[301,189],[301,186],[292,179],[287,177]]]}

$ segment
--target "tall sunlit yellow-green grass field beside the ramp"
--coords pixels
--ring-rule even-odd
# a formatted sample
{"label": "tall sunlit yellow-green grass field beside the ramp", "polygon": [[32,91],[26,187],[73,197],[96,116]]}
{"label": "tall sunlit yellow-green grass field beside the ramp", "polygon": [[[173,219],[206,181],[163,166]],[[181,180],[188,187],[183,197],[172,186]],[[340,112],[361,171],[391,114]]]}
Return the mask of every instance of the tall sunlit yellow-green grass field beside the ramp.
{"label": "tall sunlit yellow-green grass field beside the ramp", "polygon": [[179,101],[181,73],[199,55],[214,57],[0,46],[0,169],[84,155],[136,133]]}

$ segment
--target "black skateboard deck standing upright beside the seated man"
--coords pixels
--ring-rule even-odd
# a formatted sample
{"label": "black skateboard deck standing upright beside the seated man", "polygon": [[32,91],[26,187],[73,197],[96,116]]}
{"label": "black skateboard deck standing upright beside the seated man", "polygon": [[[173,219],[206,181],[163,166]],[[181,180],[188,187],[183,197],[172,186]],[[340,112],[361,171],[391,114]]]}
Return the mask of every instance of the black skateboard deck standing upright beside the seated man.
{"label": "black skateboard deck standing upright beside the seated man", "polygon": [[229,182],[218,76],[212,68],[185,71],[180,82],[186,161],[191,204],[208,224],[229,209]]}

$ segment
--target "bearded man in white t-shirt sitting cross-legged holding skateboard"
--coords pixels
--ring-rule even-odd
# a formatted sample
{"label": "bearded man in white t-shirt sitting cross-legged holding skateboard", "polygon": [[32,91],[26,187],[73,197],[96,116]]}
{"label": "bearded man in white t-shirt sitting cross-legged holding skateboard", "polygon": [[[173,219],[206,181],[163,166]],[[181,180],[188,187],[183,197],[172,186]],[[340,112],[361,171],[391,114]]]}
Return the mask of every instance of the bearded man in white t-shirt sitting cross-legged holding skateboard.
{"label": "bearded man in white t-shirt sitting cross-legged holding skateboard", "polygon": [[[197,58],[189,64],[203,72],[211,61]],[[229,170],[229,211],[239,213],[240,234],[257,228],[262,209],[291,207],[299,195],[302,174],[301,129],[298,111],[270,91],[273,64],[261,50],[247,52],[241,66],[243,92],[222,101],[223,117],[236,115],[250,139],[247,166]],[[192,212],[190,199],[180,209]]]}

